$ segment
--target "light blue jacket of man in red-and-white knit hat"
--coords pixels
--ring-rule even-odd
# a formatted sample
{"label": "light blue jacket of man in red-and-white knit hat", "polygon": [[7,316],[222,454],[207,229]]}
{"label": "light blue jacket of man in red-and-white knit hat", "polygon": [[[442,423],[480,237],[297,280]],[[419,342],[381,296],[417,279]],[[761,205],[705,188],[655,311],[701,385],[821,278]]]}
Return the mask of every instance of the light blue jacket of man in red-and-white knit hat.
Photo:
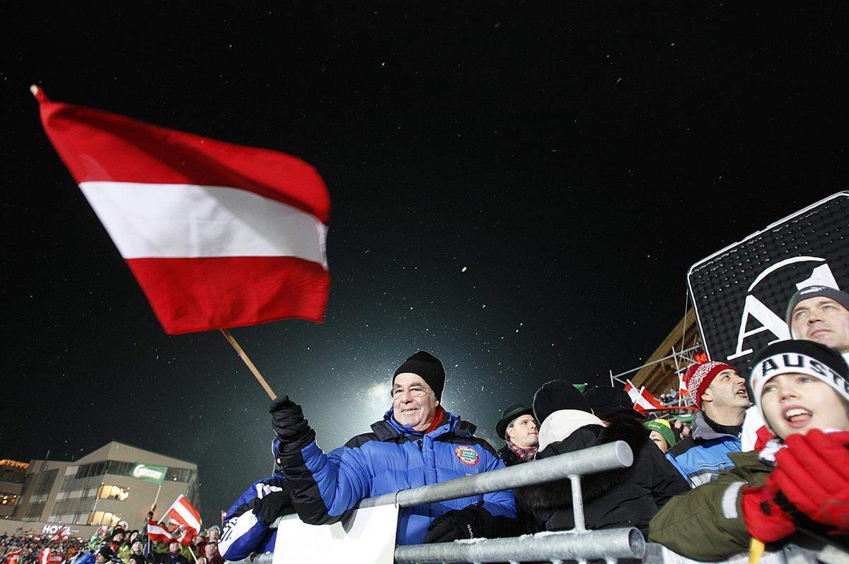
{"label": "light blue jacket of man in red-and-white knit hat", "polygon": [[740,439],[734,435],[717,433],[697,411],[693,417],[693,431],[688,438],[666,451],[672,466],[687,479],[690,488],[712,482],[719,472],[734,468],[728,454],[740,452]]}

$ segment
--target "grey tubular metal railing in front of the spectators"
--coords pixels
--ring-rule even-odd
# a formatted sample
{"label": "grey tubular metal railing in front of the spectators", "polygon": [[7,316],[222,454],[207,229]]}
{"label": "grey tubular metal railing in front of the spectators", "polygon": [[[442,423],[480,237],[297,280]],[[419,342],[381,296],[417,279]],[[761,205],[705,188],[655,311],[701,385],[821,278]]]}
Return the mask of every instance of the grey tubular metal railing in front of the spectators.
{"label": "grey tubular metal railing in front of the spectators", "polygon": [[[357,509],[378,505],[409,507],[569,479],[575,521],[575,528],[570,531],[537,533],[509,539],[470,539],[449,543],[401,545],[395,550],[396,562],[585,562],[589,559],[604,559],[608,564],[612,564],[620,558],[642,558],[645,552],[643,534],[636,528],[587,530],[581,477],[627,468],[632,464],[631,448],[624,441],[615,441],[552,456],[532,464],[519,464],[476,476],[458,477],[447,482],[367,498],[360,501]],[[274,522],[272,527],[276,528],[279,521],[278,519]],[[272,555],[265,553],[236,564],[271,564],[271,561]]]}

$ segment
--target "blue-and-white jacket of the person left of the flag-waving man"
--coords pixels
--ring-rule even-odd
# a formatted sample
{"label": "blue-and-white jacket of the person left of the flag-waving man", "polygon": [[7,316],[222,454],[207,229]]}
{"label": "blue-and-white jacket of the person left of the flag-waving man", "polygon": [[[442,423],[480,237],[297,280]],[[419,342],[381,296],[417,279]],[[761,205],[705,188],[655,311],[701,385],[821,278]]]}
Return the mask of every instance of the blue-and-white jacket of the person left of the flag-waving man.
{"label": "blue-and-white jacket of the person left of the flag-waving man", "polygon": [[277,529],[269,528],[256,519],[253,502],[267,494],[285,489],[285,479],[283,474],[278,472],[251,483],[230,507],[224,516],[224,530],[218,543],[218,551],[224,560],[237,561],[254,552],[274,551]]}

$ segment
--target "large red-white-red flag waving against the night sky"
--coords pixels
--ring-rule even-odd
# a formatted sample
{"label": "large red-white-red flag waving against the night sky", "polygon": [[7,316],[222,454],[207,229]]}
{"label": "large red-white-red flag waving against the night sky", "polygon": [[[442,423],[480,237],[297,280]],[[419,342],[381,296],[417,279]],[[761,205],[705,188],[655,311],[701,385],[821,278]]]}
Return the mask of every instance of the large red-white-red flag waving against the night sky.
{"label": "large red-white-red flag waving against the night sky", "polygon": [[311,165],[35,94],[166,332],[323,320],[330,199]]}

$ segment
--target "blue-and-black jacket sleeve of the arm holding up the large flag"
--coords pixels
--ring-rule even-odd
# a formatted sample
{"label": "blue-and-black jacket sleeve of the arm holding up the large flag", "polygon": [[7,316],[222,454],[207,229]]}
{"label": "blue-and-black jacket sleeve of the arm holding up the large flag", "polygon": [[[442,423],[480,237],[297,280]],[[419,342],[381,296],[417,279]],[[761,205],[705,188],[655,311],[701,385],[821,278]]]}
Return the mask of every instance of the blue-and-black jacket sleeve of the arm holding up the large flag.
{"label": "blue-and-black jacket sleeve of the arm holding up the large flag", "polygon": [[301,521],[338,522],[359,500],[371,495],[371,464],[360,447],[343,446],[325,455],[312,441],[280,455]]}

